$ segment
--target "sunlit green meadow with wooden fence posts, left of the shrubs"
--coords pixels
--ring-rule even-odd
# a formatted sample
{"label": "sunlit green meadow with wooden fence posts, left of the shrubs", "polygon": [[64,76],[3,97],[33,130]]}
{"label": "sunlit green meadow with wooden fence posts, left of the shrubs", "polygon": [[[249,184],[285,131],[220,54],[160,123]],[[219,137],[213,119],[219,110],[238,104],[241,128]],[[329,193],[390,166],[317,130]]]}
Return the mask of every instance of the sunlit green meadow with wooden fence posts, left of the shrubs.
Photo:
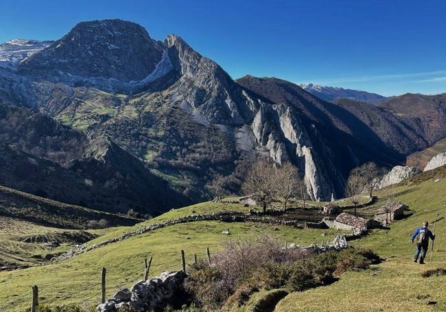
{"label": "sunlit green meadow with wooden fence posts, left of the shrubs", "polygon": [[[225,210],[246,211],[246,209],[239,204],[202,203],[171,211],[132,228],[117,228],[91,243],[103,241],[108,237],[117,237],[122,232],[139,228],[144,224],[189,215],[192,211],[213,213]],[[325,237],[333,237],[338,233],[336,230],[299,230],[285,226],[279,226],[279,230],[274,230],[274,227],[270,224],[220,221],[177,224],[97,248],[61,263],[14,272],[0,272],[2,289],[0,307],[10,301],[14,302],[14,308],[7,311],[20,311],[29,306],[32,285],[39,286],[43,303],[97,303],[102,267],[108,270],[107,296],[111,296],[119,287],[130,287],[143,276],[143,259],[148,256],[154,257],[150,269],[150,275],[154,276],[165,270],[180,269],[182,249],[185,250],[187,263],[191,263],[194,254],[204,259],[208,246],[211,253],[217,252],[230,239],[250,239],[268,235],[277,237],[284,244],[287,241],[309,245],[314,239],[321,239],[323,233]],[[227,229],[231,231],[231,235],[222,235],[222,231]]]}

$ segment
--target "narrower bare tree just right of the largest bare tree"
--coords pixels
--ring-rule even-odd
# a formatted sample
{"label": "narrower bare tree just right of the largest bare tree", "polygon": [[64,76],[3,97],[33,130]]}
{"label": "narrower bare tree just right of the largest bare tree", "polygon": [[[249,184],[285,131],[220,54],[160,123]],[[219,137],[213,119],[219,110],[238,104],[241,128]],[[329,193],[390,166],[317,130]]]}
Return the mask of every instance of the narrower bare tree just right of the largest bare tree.
{"label": "narrower bare tree just right of the largest bare tree", "polygon": [[297,168],[291,163],[277,169],[277,195],[283,198],[283,211],[286,211],[290,198],[299,194],[301,184]]}

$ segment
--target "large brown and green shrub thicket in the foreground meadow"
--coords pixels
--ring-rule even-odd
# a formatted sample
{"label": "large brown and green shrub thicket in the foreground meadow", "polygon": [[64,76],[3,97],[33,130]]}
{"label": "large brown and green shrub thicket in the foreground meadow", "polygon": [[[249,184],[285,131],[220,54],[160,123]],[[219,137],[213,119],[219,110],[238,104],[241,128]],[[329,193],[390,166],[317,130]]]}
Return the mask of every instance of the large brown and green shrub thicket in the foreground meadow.
{"label": "large brown and green shrub thicket in the foreground meadow", "polygon": [[371,250],[341,250],[314,254],[296,248],[286,250],[267,237],[255,241],[232,241],[213,256],[213,265],[193,265],[186,289],[205,310],[240,305],[259,289],[304,290],[331,283],[333,275],[366,269],[379,259]]}

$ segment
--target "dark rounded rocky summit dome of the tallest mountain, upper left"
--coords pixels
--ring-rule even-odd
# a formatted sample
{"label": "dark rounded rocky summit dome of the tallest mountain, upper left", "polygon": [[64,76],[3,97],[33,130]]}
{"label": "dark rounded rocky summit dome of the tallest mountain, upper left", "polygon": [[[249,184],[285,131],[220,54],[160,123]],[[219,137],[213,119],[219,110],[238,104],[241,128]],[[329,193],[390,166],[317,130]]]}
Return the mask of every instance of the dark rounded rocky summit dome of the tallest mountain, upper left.
{"label": "dark rounded rocky summit dome of the tallest mountain, upper left", "polygon": [[163,50],[163,45],[136,23],[119,19],[86,21],[20,67],[45,77],[65,73],[129,82],[150,75],[163,58]]}

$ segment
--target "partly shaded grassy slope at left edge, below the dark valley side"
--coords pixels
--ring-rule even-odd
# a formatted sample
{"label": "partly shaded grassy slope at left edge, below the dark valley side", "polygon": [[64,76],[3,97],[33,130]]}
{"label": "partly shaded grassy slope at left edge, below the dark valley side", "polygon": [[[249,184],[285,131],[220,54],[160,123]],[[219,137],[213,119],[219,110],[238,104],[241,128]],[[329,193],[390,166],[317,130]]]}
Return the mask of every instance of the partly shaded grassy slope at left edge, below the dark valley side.
{"label": "partly shaded grassy slope at left edge, below the dark valley side", "polygon": [[[97,237],[93,231],[85,230],[99,220],[107,226],[129,226],[142,221],[0,186],[0,271],[48,263],[53,256],[71,249],[73,244]],[[117,228],[98,233],[110,230]],[[54,241],[60,246],[44,245]]]}

